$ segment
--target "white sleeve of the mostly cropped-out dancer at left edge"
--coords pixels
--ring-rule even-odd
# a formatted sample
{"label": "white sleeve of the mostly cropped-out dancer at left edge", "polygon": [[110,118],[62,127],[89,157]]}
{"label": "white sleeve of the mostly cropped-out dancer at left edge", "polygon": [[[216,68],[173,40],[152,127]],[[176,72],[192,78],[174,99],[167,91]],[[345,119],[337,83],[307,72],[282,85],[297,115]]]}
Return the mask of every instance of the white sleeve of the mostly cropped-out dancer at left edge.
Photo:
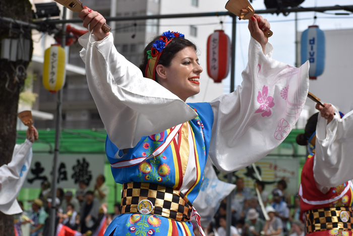
{"label": "white sleeve of the mostly cropped-out dancer at left edge", "polygon": [[26,141],[14,148],[11,162],[0,167],[0,211],[7,215],[22,212],[16,198],[26,180],[32,161],[32,143]]}

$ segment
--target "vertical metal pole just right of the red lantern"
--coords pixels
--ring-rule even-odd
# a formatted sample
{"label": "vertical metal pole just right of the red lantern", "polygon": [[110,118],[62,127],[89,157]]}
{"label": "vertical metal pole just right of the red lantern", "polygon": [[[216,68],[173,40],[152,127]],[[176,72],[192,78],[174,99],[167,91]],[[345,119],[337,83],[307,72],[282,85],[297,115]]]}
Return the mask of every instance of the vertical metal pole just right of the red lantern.
{"label": "vertical metal pole just right of the red lantern", "polygon": [[[236,45],[237,45],[237,16],[231,15],[232,17],[232,28],[231,28],[231,68],[230,68],[230,92],[234,92],[236,84]],[[227,174],[227,181],[231,183],[233,173]],[[230,193],[227,196],[227,212],[226,212],[226,236],[230,236],[230,225],[231,225],[231,197]]]}

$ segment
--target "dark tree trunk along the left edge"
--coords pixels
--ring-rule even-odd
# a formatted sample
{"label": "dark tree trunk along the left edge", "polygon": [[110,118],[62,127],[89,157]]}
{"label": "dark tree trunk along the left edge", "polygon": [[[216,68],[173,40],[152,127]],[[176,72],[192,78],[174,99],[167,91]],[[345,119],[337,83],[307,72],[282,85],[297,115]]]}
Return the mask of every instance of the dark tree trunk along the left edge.
{"label": "dark tree trunk along the left edge", "polygon": [[[32,20],[31,4],[28,0],[0,0],[0,15],[30,22]],[[33,50],[31,31],[26,27],[22,27],[21,30],[20,26],[15,23],[11,27],[12,30],[10,31],[9,23],[2,22],[0,24],[0,40],[10,37],[19,38],[22,34],[22,37],[31,40],[31,57]],[[21,49],[19,48],[19,50]],[[19,65],[27,68],[28,62],[0,60],[0,166],[11,161],[16,143],[18,100],[25,80],[24,76],[17,76],[18,80],[16,80],[16,68]],[[0,212],[0,235],[15,235],[14,217],[12,215]]]}

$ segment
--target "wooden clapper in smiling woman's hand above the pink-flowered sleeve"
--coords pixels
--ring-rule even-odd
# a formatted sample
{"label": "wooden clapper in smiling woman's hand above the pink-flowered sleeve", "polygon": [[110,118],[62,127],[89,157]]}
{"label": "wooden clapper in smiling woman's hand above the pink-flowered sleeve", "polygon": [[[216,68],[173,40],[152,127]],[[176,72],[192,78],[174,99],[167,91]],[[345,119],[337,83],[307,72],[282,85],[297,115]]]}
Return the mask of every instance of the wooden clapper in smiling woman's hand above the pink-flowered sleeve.
{"label": "wooden clapper in smiling woman's hand above the pink-flowered sleeve", "polygon": [[[229,0],[225,5],[225,9],[238,16],[239,20],[250,20],[255,14],[255,10],[248,0]],[[272,36],[273,32],[267,30],[264,34],[269,38]]]}

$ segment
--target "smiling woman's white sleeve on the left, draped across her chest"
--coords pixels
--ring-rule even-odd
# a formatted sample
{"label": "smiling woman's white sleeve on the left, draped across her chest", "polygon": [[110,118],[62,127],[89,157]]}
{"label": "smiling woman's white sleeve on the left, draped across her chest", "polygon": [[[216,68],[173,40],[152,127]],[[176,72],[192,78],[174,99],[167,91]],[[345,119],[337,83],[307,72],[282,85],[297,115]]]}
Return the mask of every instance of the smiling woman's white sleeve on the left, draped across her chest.
{"label": "smiling woman's white sleeve on the left, draped across her chest", "polygon": [[178,96],[142,76],[116,51],[112,34],[103,40],[86,33],[79,38],[89,90],[109,139],[119,149],[132,148],[141,137],[158,134],[194,119],[197,113]]}

